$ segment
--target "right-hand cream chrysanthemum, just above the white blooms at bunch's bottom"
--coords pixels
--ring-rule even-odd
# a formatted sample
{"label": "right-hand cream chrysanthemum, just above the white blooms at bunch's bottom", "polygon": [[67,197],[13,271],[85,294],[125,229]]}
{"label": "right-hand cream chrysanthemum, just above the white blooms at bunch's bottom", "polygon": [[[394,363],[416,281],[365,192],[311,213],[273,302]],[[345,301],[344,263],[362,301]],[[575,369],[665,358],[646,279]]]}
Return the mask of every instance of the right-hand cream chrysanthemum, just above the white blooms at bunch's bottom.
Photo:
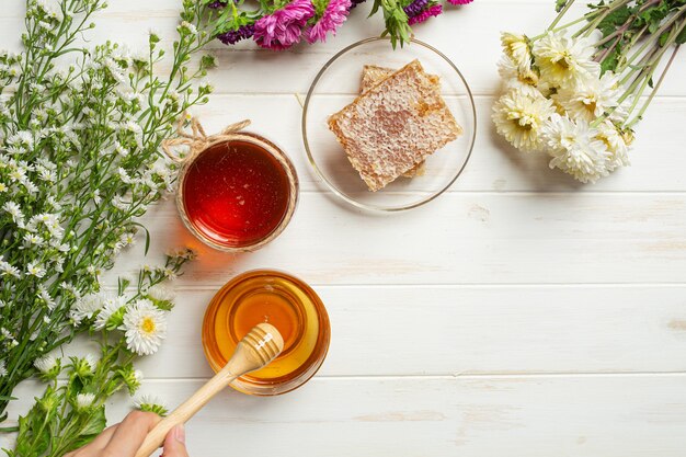
{"label": "right-hand cream chrysanthemum, just above the white blooms at bunch's bottom", "polygon": [[585,78],[561,88],[553,99],[570,117],[593,122],[618,105],[621,96],[617,77],[607,71],[601,78]]}

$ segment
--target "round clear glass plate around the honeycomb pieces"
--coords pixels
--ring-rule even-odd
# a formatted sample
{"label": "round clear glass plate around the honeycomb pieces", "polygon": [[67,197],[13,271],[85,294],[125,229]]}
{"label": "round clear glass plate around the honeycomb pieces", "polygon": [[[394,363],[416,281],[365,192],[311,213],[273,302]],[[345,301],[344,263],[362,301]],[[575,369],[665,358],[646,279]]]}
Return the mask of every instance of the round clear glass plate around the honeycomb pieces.
{"label": "round clear glass plate around the honeycomb pieces", "polygon": [[[423,175],[399,178],[369,192],[347,160],[327,121],[359,94],[365,65],[401,68],[419,59],[424,70],[441,78],[442,93],[462,135],[426,159]],[[477,112],[462,73],[444,54],[418,39],[392,49],[387,37],[357,42],[333,56],[315,78],[302,111],[302,140],[317,174],[339,197],[359,208],[398,212],[415,208],[444,193],[461,174],[475,145]]]}

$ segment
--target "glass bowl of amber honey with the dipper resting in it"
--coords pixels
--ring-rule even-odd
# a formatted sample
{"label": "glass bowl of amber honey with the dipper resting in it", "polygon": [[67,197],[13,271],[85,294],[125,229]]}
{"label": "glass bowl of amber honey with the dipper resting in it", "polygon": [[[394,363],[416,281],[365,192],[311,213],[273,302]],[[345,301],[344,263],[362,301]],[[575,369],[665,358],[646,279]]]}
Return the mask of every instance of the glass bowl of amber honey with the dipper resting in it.
{"label": "glass bowl of amber honey with the dipper resting in it", "polygon": [[284,272],[254,270],[229,281],[214,296],[203,321],[203,347],[220,370],[239,341],[261,322],[284,338],[284,351],[264,368],[236,379],[231,387],[254,396],[289,392],[307,382],[323,363],[331,327],[317,293]]}

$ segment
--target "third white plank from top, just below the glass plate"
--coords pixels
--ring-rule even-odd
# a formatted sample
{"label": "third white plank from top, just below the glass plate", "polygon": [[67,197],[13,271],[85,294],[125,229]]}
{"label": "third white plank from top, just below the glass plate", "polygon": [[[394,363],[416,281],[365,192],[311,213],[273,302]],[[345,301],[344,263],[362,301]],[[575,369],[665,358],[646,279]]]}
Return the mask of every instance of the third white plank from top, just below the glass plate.
{"label": "third white plank from top, just below the glass plate", "polygon": [[[219,286],[265,266],[316,284],[684,282],[684,194],[451,193],[389,216],[332,198],[302,193],[281,238],[247,254],[204,247],[182,226],[171,199],[151,208],[145,224],[152,252],[179,244],[199,252],[181,285]],[[114,273],[140,264],[140,250],[125,253]]]}

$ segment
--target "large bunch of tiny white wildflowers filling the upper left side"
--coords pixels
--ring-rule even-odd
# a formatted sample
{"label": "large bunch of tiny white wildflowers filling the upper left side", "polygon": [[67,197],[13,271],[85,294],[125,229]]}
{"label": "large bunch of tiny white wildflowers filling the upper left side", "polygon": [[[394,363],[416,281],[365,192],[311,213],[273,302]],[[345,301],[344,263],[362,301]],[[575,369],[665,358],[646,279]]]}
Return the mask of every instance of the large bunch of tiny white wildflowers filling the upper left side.
{"label": "large bunch of tiny white wildflowers filling the upper left side", "polygon": [[192,60],[213,38],[204,2],[183,1],[164,77],[155,33],[141,54],[82,44],[103,0],[50,5],[26,0],[24,49],[0,52],[0,422],[34,361],[89,329],[84,297],[172,184],[161,141],[211,89],[196,80],[214,59]]}

